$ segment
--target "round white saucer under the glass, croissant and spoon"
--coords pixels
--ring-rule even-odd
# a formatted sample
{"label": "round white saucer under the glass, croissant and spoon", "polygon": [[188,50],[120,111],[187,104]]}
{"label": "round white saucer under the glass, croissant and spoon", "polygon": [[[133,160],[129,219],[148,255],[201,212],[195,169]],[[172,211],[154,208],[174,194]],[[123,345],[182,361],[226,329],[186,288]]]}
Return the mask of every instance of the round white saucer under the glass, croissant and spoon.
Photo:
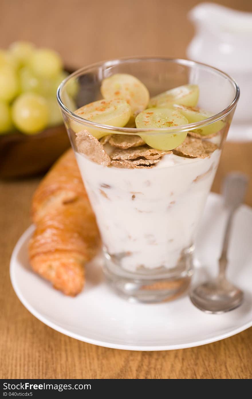
{"label": "round white saucer under the glass, croissant and spoon", "polygon": [[[194,283],[217,273],[225,217],[221,197],[211,194],[197,239]],[[87,266],[83,292],[76,298],[64,296],[30,270],[27,244],[32,231],[31,226],[13,251],[12,285],[35,317],[63,334],[108,348],[150,351],[204,345],[252,326],[250,207],[243,205],[237,211],[228,270],[230,280],[244,290],[245,300],[240,308],[222,315],[201,312],[188,296],[162,304],[129,303],[106,286],[100,258]]]}

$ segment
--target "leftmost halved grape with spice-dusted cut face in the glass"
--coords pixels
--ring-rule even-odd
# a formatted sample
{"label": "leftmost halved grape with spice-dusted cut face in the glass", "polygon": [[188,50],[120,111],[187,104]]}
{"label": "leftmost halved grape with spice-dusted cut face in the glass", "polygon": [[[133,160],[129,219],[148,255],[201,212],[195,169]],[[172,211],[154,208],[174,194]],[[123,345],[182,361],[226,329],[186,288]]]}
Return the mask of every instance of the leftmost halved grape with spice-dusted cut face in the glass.
{"label": "leftmost halved grape with spice-dusted cut face in the glass", "polygon": [[[124,100],[98,100],[77,109],[75,114],[96,123],[123,127],[130,119],[131,109],[130,105]],[[71,121],[71,128],[75,133],[78,133],[85,129],[85,126],[81,123]],[[98,139],[111,133],[110,130],[99,130],[90,127],[87,130]]]}

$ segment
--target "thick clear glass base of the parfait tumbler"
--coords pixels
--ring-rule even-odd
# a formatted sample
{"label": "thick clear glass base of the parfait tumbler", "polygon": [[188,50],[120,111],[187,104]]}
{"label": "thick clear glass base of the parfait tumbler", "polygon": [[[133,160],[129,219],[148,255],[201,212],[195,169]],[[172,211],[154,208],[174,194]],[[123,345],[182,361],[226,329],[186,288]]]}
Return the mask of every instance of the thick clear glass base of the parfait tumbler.
{"label": "thick clear glass base of the parfait tumbler", "polygon": [[104,275],[110,287],[131,302],[156,303],[173,300],[189,287],[193,274],[193,248],[191,247],[174,269],[150,270],[131,273],[114,263],[104,253]]}

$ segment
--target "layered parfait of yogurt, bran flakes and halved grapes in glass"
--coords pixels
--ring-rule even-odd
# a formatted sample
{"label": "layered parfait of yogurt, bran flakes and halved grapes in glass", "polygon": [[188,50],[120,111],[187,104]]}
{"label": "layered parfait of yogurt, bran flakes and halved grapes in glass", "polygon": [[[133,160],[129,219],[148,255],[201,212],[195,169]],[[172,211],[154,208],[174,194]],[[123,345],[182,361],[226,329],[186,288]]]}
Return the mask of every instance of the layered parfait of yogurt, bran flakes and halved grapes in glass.
{"label": "layered parfait of yogurt, bran flakes and halved grapes in glass", "polygon": [[[78,74],[79,96],[61,93],[63,82],[58,99],[100,229],[106,278],[127,298],[157,302],[177,296],[190,282],[195,234],[238,89],[228,77],[227,98],[222,93],[207,108],[213,95],[205,85],[201,93],[201,79],[174,87],[169,77],[167,89],[159,77],[157,86],[165,90],[157,93],[146,73],[144,82],[126,73],[125,65],[117,69],[99,69],[95,101],[87,103],[90,87]],[[188,71],[187,79],[193,75]]]}

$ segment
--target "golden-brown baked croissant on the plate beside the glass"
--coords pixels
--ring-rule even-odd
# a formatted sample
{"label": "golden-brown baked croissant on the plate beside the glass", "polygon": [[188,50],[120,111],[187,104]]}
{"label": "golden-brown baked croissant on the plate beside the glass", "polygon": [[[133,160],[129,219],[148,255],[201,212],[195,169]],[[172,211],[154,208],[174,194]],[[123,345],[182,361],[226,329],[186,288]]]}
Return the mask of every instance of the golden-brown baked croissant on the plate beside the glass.
{"label": "golden-brown baked croissant on the plate beside the glass", "polygon": [[32,219],[32,269],[64,294],[77,295],[85,282],[84,265],[96,254],[100,237],[73,150],[63,154],[39,184]]}

